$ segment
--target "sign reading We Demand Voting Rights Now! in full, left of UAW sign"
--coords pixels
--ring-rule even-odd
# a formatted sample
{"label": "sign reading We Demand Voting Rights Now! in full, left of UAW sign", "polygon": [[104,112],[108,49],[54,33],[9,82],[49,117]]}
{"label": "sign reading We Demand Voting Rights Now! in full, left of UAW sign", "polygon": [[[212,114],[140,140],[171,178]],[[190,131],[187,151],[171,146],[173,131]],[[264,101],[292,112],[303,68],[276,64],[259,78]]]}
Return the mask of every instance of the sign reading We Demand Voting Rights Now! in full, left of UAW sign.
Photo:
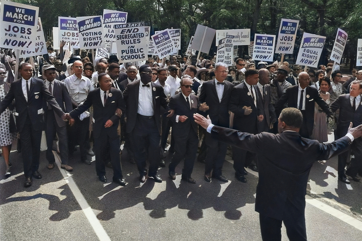
{"label": "sign reading We Demand Voting Rights Now! in full, left of UAW sign", "polygon": [[104,48],[102,16],[77,17],[81,49]]}

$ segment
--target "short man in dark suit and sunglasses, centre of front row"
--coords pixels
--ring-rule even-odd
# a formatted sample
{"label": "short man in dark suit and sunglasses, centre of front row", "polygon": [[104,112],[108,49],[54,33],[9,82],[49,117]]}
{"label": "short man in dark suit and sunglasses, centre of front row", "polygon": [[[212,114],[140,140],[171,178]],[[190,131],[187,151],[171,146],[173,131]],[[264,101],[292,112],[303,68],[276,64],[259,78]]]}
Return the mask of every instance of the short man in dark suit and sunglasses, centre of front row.
{"label": "short man in dark suit and sunglasses, centre of front row", "polygon": [[182,78],[181,92],[171,97],[168,108],[174,110],[174,115],[170,118],[174,123],[172,135],[175,139],[175,152],[171,163],[168,166],[168,173],[172,180],[176,179],[175,168],[184,161],[181,180],[196,183],[191,178],[198,147],[198,125],[194,121],[194,114],[198,108],[198,97],[192,95],[193,82],[190,78]]}

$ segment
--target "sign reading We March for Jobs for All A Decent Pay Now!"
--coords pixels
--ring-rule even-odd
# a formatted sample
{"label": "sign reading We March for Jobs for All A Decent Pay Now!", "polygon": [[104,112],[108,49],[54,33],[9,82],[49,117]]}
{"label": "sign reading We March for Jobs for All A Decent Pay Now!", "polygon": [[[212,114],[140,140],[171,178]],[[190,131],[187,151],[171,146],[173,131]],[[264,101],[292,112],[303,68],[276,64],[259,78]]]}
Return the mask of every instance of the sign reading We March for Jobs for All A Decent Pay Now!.
{"label": "sign reading We March for Jobs for All A Decent Pay Now!", "polygon": [[273,61],[275,35],[255,34],[253,60]]}

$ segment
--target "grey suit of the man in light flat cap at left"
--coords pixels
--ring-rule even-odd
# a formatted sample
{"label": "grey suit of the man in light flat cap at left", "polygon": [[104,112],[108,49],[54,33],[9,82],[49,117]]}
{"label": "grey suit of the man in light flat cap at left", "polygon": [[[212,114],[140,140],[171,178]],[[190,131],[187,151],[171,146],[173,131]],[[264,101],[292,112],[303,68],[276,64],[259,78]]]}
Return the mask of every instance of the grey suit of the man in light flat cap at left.
{"label": "grey suit of the man in light flat cap at left", "polygon": [[[64,82],[54,79],[52,81],[52,95],[54,96],[56,102],[59,104],[59,107],[66,113],[72,111],[72,100],[68,93],[67,86]],[[53,109],[47,106],[46,101],[44,101],[44,116],[46,123],[46,159],[49,163],[54,163],[55,158],[52,152],[53,140],[54,140],[54,130],[58,134],[59,138],[59,152],[60,159],[62,160],[62,164],[68,164],[68,135],[67,135],[67,127],[66,121],[56,115]]]}

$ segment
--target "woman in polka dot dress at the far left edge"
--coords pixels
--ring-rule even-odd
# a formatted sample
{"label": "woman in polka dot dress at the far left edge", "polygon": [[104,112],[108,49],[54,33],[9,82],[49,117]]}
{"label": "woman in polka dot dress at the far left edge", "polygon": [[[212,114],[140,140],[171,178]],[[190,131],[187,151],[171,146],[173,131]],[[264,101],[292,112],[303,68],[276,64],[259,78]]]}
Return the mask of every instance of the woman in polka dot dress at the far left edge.
{"label": "woman in polka dot dress at the far left edge", "polygon": [[[6,69],[0,66],[0,100],[3,101],[8,94],[10,84],[4,82],[6,76]],[[11,111],[7,108],[0,116],[0,146],[3,151],[3,156],[6,165],[5,176],[10,175],[11,164],[9,162],[9,155],[11,150],[11,144],[16,138],[16,133],[10,133],[9,123]]]}

